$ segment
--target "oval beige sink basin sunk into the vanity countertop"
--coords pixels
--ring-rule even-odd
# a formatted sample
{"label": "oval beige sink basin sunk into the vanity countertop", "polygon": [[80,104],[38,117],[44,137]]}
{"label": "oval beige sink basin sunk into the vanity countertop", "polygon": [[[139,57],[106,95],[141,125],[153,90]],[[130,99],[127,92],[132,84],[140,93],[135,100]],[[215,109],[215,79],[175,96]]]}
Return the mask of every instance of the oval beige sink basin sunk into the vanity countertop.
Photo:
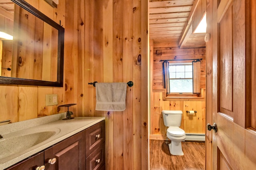
{"label": "oval beige sink basin sunk into the vanity countertop", "polygon": [[39,143],[42,143],[59,132],[60,129],[55,128],[51,131],[11,135],[10,137],[4,136],[2,139],[0,139],[0,159],[22,152]]}

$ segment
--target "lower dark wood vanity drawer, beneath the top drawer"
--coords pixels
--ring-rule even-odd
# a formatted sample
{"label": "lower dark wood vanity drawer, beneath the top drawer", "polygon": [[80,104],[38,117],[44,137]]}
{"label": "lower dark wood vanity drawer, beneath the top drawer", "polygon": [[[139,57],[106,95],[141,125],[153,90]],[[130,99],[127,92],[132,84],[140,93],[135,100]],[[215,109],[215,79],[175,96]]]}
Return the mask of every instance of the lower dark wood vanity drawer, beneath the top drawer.
{"label": "lower dark wood vanity drawer, beneath the top drawer", "polygon": [[103,170],[105,169],[104,167],[105,143],[101,143],[101,145],[86,159],[86,170]]}

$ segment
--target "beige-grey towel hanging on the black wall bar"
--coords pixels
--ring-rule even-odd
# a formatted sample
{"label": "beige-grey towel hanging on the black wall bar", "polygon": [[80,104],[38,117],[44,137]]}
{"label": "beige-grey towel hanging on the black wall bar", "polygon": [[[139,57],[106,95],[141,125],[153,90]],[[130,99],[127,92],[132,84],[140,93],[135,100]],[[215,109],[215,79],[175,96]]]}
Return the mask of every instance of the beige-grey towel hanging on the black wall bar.
{"label": "beige-grey towel hanging on the black wall bar", "polygon": [[96,83],[96,110],[124,111],[126,83]]}

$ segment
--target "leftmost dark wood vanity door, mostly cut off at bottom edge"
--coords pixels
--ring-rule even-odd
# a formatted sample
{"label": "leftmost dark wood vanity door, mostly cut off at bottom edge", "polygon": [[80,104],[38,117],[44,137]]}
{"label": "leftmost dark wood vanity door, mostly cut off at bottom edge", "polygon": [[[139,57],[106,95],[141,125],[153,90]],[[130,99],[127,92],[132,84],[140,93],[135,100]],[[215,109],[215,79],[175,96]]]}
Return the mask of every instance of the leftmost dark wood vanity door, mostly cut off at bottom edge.
{"label": "leftmost dark wood vanity door, mostly cut off at bottom edge", "polygon": [[44,152],[40,152],[30,158],[19,162],[18,164],[7,168],[6,170],[36,170],[39,166],[44,165]]}

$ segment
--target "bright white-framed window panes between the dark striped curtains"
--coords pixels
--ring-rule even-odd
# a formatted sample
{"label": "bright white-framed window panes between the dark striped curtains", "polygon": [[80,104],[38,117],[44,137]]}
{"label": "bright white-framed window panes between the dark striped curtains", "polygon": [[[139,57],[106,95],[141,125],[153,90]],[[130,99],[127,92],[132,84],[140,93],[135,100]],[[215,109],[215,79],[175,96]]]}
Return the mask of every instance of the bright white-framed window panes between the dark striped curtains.
{"label": "bright white-framed window panes between the dark striped curtains", "polygon": [[169,64],[170,93],[193,92],[192,63]]}

